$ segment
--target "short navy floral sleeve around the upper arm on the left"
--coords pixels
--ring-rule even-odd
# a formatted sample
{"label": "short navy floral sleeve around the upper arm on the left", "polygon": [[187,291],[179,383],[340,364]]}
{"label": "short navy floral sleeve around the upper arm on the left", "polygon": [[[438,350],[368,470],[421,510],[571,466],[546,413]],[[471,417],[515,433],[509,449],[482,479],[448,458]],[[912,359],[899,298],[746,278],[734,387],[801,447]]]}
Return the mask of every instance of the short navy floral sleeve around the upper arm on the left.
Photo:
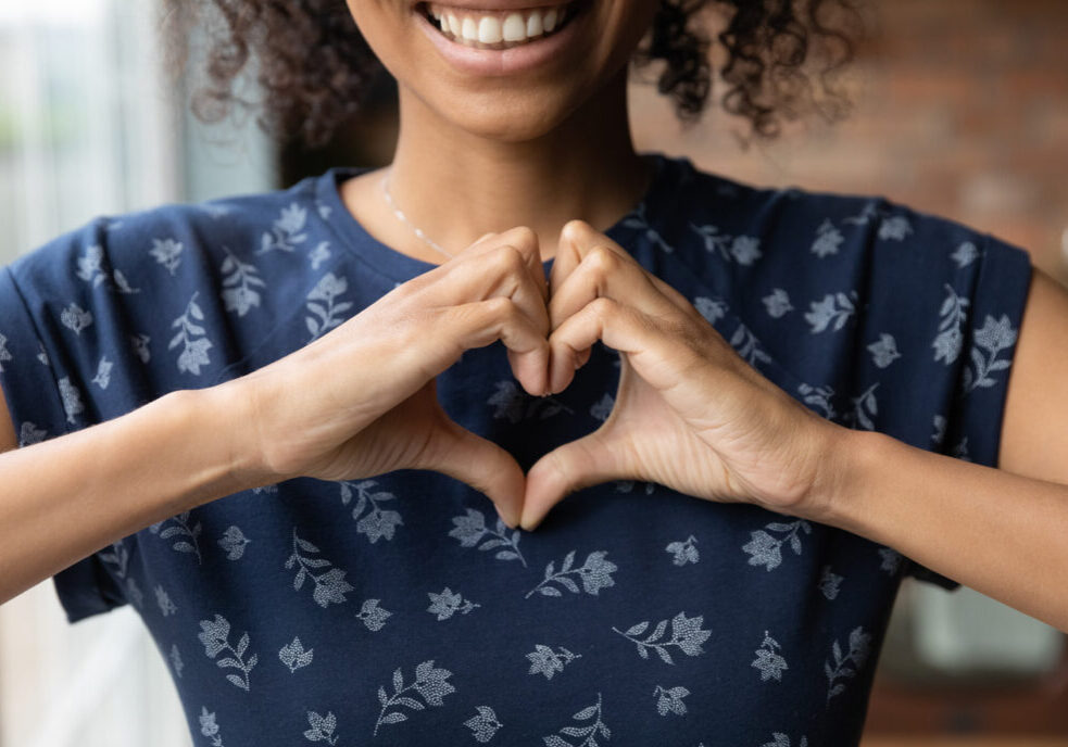
{"label": "short navy floral sleeve around the upper arm on the left", "polygon": [[[0,389],[20,447],[89,422],[77,356],[62,334],[63,312],[52,313],[67,302],[65,292],[74,288],[64,274],[71,271],[76,251],[74,235],[65,235],[0,268]],[[35,282],[27,286],[26,280]],[[78,302],[70,303],[77,306]],[[76,309],[65,311],[71,327],[84,324]],[[96,553],[56,573],[53,583],[70,622],[126,603]]]}

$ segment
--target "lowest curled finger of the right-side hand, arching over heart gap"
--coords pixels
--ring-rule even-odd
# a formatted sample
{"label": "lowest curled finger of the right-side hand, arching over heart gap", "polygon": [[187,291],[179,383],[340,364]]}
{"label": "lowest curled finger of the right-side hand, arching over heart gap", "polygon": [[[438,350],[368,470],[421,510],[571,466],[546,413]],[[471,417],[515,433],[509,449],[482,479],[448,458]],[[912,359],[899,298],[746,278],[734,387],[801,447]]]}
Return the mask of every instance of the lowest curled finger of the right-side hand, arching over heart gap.
{"label": "lowest curled finger of the right-side hand, arching over heart gap", "polygon": [[549,338],[552,393],[567,389],[576,362],[598,340],[626,353],[631,367],[659,391],[676,385],[695,355],[664,322],[614,299],[599,296],[565,319]]}

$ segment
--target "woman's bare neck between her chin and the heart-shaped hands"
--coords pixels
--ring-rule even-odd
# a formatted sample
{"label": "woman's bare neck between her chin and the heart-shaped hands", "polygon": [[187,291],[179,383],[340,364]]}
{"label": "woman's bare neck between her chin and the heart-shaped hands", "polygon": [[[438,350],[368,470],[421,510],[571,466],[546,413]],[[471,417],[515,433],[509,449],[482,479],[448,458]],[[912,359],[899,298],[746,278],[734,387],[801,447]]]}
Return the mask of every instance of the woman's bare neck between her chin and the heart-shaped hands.
{"label": "woman's bare neck between her chin and the heart-shaped hands", "polygon": [[631,142],[626,90],[624,69],[550,132],[508,142],[451,125],[402,87],[390,191],[453,254],[487,232],[527,226],[546,261],[565,223],[604,230],[648,188],[651,166]]}

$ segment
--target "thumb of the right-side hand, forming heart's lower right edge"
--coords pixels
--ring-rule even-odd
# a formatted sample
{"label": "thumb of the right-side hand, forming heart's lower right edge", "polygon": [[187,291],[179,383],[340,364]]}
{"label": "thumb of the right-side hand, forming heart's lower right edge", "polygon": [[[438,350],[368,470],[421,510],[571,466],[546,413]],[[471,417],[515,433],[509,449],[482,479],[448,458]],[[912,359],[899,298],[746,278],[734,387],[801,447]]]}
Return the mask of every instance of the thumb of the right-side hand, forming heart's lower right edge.
{"label": "thumb of the right-side hand, forming heart's lower right edge", "polygon": [[628,472],[623,450],[599,431],[558,446],[527,470],[519,524],[531,530],[568,493],[627,479]]}

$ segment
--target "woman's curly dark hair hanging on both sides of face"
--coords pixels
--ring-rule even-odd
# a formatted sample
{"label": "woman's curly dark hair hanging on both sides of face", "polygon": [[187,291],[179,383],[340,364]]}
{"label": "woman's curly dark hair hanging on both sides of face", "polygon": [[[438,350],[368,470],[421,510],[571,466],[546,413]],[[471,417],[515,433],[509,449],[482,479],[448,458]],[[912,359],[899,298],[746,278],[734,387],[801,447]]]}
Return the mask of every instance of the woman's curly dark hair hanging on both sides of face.
{"label": "woman's curly dark hair hanging on both sides of face", "polygon": [[[234,104],[259,109],[256,123],[279,142],[296,137],[318,148],[360,110],[381,74],[342,0],[165,0],[163,10],[175,81],[188,61],[190,31],[200,26],[206,34],[206,84],[191,102],[204,123],[225,118]],[[724,22],[719,50],[698,23],[705,11]],[[847,113],[832,76],[852,60],[863,25],[854,0],[661,0],[631,64],[638,69],[663,61],[657,90],[690,125],[712,89],[712,54],[721,52],[723,107],[747,119],[753,136],[774,138],[782,119],[809,109],[829,121]],[[805,72],[813,58],[822,60],[818,90]],[[234,90],[250,62],[257,65],[261,103]]]}

